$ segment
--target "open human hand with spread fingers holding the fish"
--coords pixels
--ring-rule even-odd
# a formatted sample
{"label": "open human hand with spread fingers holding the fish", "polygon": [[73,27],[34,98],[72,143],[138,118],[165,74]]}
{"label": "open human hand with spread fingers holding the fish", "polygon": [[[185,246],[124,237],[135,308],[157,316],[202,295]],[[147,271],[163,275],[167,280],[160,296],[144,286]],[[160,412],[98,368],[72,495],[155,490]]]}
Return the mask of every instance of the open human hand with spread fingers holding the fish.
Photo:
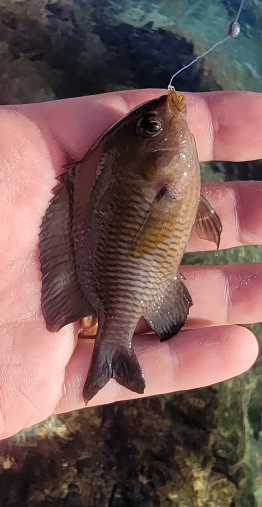
{"label": "open human hand with spread fingers holding the fish", "polygon": [[[53,413],[84,406],[82,388],[93,342],[73,324],[50,333],[40,310],[38,234],[61,167],[80,160],[108,127],[162,90],[134,90],[0,110],[0,438]],[[200,160],[262,157],[262,94],[185,94]],[[221,248],[262,242],[262,182],[204,184],[223,223]],[[192,236],[188,250],[214,245]],[[253,334],[236,323],[262,320],[262,264],[183,266],[193,307],[186,330],[134,348],[144,395],[209,385],[240,374],[257,355]],[[200,329],[201,328],[201,329]],[[141,395],[111,380],[90,405]]]}

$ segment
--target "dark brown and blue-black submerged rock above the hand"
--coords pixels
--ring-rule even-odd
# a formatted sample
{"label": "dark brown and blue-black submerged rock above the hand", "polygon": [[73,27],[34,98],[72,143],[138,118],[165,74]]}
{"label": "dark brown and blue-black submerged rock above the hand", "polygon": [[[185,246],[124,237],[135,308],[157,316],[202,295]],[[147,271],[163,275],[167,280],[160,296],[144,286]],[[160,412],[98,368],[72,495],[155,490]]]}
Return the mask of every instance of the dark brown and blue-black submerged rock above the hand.
{"label": "dark brown and blue-black submerged rock above the hand", "polygon": [[[5,69],[0,103],[165,88],[174,68],[195,57],[192,42],[154,29],[152,23],[106,24],[105,5],[70,0],[0,3],[0,61]],[[184,91],[221,89],[203,62],[179,76],[176,86]]]}

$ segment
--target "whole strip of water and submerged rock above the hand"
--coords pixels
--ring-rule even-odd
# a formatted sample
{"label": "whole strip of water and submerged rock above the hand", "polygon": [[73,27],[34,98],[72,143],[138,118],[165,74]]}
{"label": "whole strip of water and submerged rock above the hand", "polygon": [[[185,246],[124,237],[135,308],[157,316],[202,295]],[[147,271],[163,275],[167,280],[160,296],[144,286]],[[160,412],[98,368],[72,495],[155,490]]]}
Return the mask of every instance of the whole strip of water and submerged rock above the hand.
{"label": "whole strip of water and submerged rock above the hand", "polygon": [[[222,40],[236,0],[0,0],[0,103],[166,87]],[[241,32],[180,74],[180,90],[261,91],[262,5],[245,0]]]}

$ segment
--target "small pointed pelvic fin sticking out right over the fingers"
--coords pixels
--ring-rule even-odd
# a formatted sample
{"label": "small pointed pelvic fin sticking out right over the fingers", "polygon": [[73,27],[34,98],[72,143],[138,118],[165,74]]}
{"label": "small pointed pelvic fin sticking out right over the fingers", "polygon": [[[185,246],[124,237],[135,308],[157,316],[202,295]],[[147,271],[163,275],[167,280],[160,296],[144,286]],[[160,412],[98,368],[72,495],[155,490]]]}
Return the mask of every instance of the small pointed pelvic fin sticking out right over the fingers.
{"label": "small pointed pelvic fin sticking out right over the fingers", "polygon": [[198,236],[201,239],[207,239],[216,244],[215,255],[217,255],[223,227],[219,215],[217,215],[212,206],[202,195],[200,196],[195,226]]}

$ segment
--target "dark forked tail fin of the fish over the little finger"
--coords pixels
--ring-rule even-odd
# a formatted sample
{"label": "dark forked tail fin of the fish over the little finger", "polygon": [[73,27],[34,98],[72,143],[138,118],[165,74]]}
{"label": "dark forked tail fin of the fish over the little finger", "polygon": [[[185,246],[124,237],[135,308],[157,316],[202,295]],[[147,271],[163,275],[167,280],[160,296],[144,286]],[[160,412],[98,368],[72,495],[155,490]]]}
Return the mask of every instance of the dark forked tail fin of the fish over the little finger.
{"label": "dark forked tail fin of the fish over the little finger", "polygon": [[145,380],[133,348],[117,344],[95,345],[83,388],[85,405],[111,378],[131,391],[144,392]]}

